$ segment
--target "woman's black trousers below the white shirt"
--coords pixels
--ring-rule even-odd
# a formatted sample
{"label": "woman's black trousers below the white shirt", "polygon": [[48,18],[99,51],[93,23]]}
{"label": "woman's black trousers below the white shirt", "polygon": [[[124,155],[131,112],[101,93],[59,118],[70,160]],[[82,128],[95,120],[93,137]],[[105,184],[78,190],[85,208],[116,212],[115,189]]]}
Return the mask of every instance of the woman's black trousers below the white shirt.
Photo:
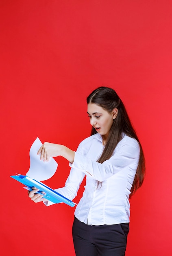
{"label": "woman's black trousers below the white shirt", "polygon": [[76,256],[124,256],[129,223],[86,225],[76,217],[72,235]]}

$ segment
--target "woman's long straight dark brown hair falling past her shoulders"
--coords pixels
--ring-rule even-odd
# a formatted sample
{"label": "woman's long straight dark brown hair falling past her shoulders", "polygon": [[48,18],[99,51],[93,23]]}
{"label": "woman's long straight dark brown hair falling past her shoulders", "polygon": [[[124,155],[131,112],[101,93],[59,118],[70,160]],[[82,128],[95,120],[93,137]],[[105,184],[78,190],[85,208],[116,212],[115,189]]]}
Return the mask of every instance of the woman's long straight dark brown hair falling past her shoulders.
{"label": "woman's long straight dark brown hair falling past her shoulders", "polygon": [[[87,97],[87,104],[95,103],[98,106],[101,106],[108,112],[111,112],[114,108],[118,109],[118,115],[115,119],[113,119],[113,124],[111,126],[111,130],[109,131],[109,135],[105,144],[105,148],[102,152],[102,155],[97,160],[99,163],[103,163],[107,159],[109,159],[118,142],[122,139],[122,133],[125,133],[128,137],[134,138],[138,141],[140,146],[140,156],[139,156],[139,164],[137,167],[137,171],[135,174],[135,179],[133,182],[133,186],[131,188],[130,197],[135,193],[135,191],[142,186],[145,175],[145,158],[142,150],[142,146],[139,142],[139,139],[136,135],[136,132],[131,124],[131,121],[126,112],[126,108],[118,96],[118,94],[112,88],[101,86],[96,90],[91,92]],[[96,134],[96,130],[94,127],[91,129],[91,135]],[[98,181],[98,187],[102,182]],[[100,186],[101,187],[101,186]]]}

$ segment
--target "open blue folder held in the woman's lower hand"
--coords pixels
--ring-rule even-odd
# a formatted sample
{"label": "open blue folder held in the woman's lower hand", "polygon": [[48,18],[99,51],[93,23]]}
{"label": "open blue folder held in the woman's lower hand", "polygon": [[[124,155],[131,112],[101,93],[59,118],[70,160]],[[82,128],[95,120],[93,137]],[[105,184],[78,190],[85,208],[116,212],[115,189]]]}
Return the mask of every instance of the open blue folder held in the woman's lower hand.
{"label": "open blue folder held in the woman's lower hand", "polygon": [[70,201],[68,198],[65,198],[63,195],[57,193],[55,190],[51,189],[49,186],[46,186],[44,183],[40,181],[33,180],[26,175],[17,174],[10,177],[24,184],[28,188],[28,190],[30,190],[32,187],[36,187],[37,189],[39,189],[38,191],[39,194],[40,194],[40,191],[45,192],[46,195],[43,194],[44,197],[55,204],[64,202],[65,204],[68,204],[71,207],[74,207],[76,205],[74,202]]}

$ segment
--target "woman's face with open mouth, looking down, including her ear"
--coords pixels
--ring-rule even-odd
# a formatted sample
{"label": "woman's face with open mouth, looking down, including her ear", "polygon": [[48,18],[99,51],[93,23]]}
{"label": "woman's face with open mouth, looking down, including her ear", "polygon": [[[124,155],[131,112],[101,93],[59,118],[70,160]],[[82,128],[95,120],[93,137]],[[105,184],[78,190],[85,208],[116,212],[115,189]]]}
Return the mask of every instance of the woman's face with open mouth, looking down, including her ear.
{"label": "woman's face with open mouth, looking down, including her ear", "polygon": [[118,109],[114,108],[112,112],[109,113],[107,110],[95,103],[88,103],[87,113],[90,119],[90,124],[100,135],[107,138],[113,124],[113,119],[118,115]]}

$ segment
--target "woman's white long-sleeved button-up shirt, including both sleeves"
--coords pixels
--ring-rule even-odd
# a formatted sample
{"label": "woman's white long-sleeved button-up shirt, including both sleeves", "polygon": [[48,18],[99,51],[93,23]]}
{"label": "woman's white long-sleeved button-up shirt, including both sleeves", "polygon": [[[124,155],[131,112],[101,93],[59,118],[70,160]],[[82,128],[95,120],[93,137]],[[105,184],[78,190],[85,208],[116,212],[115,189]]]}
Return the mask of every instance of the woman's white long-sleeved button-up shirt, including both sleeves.
{"label": "woman's white long-sleeved button-up shirt, including both sleeves", "polygon": [[[139,144],[124,135],[111,158],[100,164],[96,161],[103,148],[98,133],[84,139],[75,153],[65,186],[56,191],[73,200],[86,175],[85,191],[74,213],[76,218],[89,225],[129,222],[129,195],[139,162]],[[102,182],[101,187],[97,188],[96,180]]]}

